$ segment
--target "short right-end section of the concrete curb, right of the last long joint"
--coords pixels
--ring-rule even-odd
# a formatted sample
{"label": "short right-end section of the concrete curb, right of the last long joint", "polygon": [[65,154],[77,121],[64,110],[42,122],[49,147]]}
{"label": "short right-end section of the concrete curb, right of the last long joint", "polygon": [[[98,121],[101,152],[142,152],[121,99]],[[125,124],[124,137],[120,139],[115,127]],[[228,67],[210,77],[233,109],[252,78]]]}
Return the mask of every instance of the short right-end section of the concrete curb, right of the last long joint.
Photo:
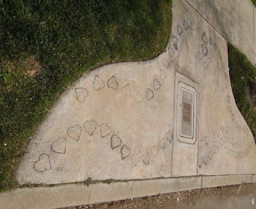
{"label": "short right-end section of the concrete curb, right of the last long joint", "polygon": [[202,188],[252,183],[252,175],[227,175],[215,177],[202,177]]}

